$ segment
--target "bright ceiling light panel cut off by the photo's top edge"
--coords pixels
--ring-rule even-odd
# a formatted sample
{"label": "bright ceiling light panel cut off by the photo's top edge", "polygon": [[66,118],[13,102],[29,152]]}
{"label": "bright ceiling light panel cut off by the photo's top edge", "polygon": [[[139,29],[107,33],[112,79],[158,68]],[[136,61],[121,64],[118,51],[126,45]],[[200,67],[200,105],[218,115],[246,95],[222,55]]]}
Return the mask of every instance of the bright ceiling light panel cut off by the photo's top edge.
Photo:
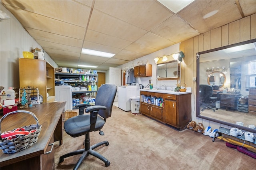
{"label": "bright ceiling light panel cut off by the photo's top edge", "polygon": [[194,0],[158,0],[161,4],[166,6],[169,10],[176,14],[189,4],[191,4]]}

